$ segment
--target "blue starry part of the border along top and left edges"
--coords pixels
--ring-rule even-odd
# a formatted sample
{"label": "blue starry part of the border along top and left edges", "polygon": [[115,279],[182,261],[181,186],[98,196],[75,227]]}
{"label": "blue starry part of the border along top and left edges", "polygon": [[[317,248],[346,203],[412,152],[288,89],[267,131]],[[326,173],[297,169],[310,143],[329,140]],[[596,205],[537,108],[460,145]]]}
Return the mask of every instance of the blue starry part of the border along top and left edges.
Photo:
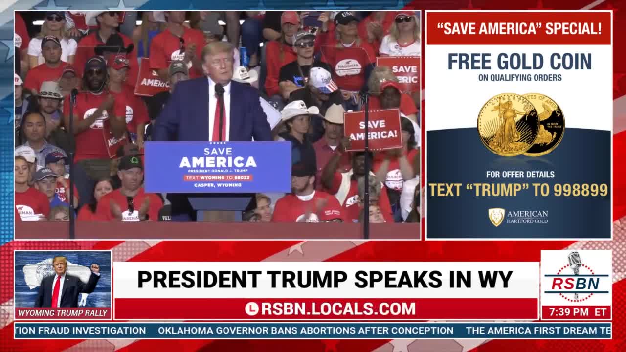
{"label": "blue starry part of the border along top and left edges", "polygon": [[[11,1],[11,0],[4,0]],[[280,9],[401,9],[409,3],[403,0],[236,0],[233,3],[213,3],[205,0],[19,0],[0,13],[0,245],[13,240],[14,200],[13,200],[13,86],[9,86],[14,71],[13,13],[24,10],[160,10],[160,9],[211,9],[216,10],[280,10]],[[178,8],[172,8],[177,4]],[[228,6],[226,6],[228,5]]]}

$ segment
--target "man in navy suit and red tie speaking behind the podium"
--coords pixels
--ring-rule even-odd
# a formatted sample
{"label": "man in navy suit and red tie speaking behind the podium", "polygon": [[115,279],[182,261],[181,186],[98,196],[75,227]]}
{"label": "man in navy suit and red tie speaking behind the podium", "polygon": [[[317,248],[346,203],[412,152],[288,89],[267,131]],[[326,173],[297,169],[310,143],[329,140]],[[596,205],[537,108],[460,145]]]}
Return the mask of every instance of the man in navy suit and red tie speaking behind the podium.
{"label": "man in navy suit and red tie speaking behind the podium", "polygon": [[[178,83],[156,118],[153,141],[270,141],[272,133],[259,91],[232,81],[233,46],[223,41],[202,49],[206,77]],[[185,194],[168,194],[172,220],[193,219]],[[187,215],[181,217],[178,215]]]}

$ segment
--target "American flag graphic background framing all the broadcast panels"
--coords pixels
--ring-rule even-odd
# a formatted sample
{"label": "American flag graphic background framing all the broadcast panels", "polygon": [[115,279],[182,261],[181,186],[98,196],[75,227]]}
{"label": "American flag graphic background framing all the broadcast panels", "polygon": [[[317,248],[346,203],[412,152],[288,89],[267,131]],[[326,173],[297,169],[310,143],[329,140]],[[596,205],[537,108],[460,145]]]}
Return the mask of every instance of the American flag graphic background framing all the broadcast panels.
{"label": "American flag graphic background framing all the broadcast panels", "polygon": [[[388,6],[384,6],[387,4]],[[10,74],[13,71],[13,11],[38,9],[202,9],[206,6],[253,8],[352,9],[612,9],[613,119],[614,119],[614,211],[613,241],[10,241],[13,237],[12,149],[13,100]],[[2,201],[0,208],[0,350],[3,351],[299,351],[299,352],[422,352],[422,351],[626,351],[626,1],[624,0],[493,0],[444,1],[247,1],[220,4],[182,0],[26,0],[0,4],[0,127],[2,140]],[[6,48],[5,48],[6,47]],[[424,72],[428,74],[428,71]],[[581,84],[581,89],[592,89]],[[424,87],[428,89],[428,87]],[[8,114],[7,114],[8,113]],[[424,129],[422,128],[424,131]],[[11,141],[8,140],[11,138]],[[6,157],[8,155],[8,158]],[[6,160],[9,160],[6,161]],[[424,194],[424,192],[422,192]],[[541,249],[610,249],[613,251],[613,339],[612,340],[19,340],[13,339],[13,251],[16,249],[71,250],[111,249],[114,261],[539,261]]]}

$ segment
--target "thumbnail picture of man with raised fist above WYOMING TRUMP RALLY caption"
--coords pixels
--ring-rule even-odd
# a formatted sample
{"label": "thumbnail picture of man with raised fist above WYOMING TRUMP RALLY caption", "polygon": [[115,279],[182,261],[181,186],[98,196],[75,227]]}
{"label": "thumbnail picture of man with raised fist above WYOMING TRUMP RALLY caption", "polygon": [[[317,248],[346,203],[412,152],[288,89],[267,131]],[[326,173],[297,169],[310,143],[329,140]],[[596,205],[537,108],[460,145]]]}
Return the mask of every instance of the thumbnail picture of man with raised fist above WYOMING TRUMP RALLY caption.
{"label": "thumbnail picture of man with raised fist above WYOMING TRUMP RALLY caption", "polygon": [[16,251],[15,306],[110,308],[111,252]]}

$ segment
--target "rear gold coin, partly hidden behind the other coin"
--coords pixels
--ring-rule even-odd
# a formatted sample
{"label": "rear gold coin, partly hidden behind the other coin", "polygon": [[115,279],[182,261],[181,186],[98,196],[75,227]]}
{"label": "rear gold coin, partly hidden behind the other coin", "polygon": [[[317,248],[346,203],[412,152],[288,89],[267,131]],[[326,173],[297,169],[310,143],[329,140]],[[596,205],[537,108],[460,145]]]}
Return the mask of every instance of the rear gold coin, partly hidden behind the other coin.
{"label": "rear gold coin, partly hidden behind the other coin", "polygon": [[524,155],[540,157],[557,148],[565,134],[565,116],[558,104],[548,96],[539,93],[524,95],[534,106],[539,115],[539,133],[535,143]]}

